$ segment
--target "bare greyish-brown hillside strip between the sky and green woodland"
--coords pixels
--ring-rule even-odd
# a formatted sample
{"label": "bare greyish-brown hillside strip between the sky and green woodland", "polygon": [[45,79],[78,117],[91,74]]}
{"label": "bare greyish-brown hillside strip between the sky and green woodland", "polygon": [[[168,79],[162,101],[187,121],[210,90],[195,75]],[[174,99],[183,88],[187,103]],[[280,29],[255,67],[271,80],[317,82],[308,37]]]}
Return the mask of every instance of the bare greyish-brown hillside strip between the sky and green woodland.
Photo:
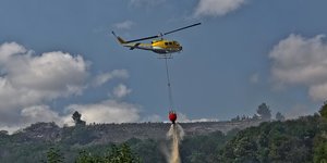
{"label": "bare greyish-brown hillside strip between the sky and green woodland", "polygon": [[[208,135],[214,131],[227,133],[231,129],[244,129],[251,126],[257,126],[257,121],[240,121],[240,122],[198,122],[198,123],[181,123],[187,136]],[[73,127],[60,128],[55,123],[36,123],[27,128],[13,134],[20,142],[49,141],[58,142],[66,139],[76,139],[74,135],[85,134],[86,143],[107,143],[107,142],[124,142],[131,138],[137,139],[165,139],[166,133],[169,130],[170,123],[129,123],[129,124],[90,124],[78,125]]]}

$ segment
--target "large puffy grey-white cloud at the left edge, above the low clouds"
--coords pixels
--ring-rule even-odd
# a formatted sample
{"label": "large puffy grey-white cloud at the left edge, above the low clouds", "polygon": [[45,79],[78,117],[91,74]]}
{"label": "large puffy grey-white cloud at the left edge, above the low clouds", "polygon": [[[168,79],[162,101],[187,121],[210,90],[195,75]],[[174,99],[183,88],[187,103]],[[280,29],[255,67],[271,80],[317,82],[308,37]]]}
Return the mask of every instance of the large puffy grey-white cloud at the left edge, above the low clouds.
{"label": "large puffy grey-white cloud at the left edge, above the low clouds", "polygon": [[34,55],[15,42],[1,45],[0,110],[81,93],[87,66],[81,55],[61,51]]}

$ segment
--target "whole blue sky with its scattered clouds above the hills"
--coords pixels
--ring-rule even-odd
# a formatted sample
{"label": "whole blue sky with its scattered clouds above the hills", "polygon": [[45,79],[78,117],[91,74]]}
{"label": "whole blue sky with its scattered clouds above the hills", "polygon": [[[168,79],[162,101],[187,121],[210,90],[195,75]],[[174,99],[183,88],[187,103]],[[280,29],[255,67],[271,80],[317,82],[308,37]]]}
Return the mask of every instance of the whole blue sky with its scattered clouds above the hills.
{"label": "whole blue sky with its scattered clouds above the hills", "polygon": [[313,114],[327,96],[324,0],[1,0],[0,129],[35,122],[167,121],[165,62],[125,39],[193,23],[167,39],[183,121],[253,115],[266,102],[287,117]]}

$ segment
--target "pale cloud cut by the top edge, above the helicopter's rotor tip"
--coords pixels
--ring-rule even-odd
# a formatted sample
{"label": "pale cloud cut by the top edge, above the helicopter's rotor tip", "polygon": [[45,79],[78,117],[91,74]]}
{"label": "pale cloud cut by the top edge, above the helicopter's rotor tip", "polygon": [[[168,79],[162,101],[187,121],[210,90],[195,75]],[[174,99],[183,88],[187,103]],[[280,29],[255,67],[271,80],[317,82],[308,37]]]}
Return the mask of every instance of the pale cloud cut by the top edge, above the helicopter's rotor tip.
{"label": "pale cloud cut by the top edge, above the helicopter's rotor tip", "polygon": [[239,9],[246,0],[198,0],[194,15],[222,16]]}

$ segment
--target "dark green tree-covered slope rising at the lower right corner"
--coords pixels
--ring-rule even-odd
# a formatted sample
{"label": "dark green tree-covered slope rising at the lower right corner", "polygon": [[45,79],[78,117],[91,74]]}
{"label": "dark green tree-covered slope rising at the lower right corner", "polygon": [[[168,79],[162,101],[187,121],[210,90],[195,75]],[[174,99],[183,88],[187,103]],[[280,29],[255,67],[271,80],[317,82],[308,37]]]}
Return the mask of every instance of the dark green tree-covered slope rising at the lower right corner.
{"label": "dark green tree-covered slope rising at the lower right corner", "polygon": [[263,123],[240,131],[219,152],[219,161],[324,162],[327,161],[327,124],[319,116]]}

